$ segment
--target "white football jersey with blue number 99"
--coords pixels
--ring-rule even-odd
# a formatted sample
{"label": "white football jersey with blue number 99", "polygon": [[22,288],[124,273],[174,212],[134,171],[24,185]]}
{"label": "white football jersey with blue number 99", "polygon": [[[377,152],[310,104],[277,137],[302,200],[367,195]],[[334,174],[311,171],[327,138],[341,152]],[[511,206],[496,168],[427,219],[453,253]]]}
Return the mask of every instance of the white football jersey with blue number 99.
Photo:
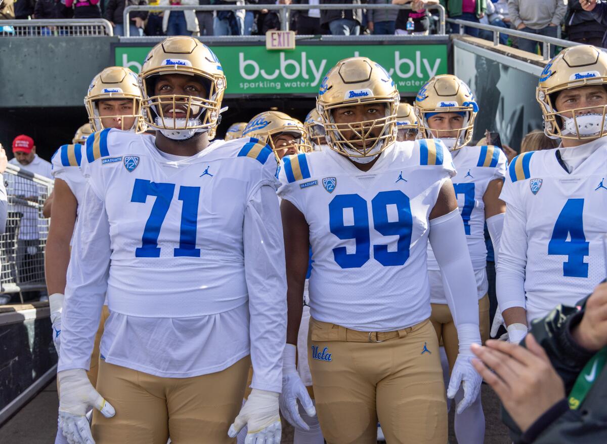
{"label": "white football jersey with blue number 99", "polygon": [[430,317],[428,216],[453,174],[433,139],[395,143],[367,172],[333,149],[283,159],[279,196],[310,226],[315,319],[390,331]]}

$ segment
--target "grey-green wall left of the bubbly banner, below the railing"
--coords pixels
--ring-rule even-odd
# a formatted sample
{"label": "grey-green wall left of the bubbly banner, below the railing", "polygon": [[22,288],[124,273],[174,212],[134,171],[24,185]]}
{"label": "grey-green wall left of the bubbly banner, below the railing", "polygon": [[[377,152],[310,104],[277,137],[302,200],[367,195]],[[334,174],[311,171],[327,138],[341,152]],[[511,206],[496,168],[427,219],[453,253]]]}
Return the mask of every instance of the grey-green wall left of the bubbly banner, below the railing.
{"label": "grey-green wall left of the bubbly banner, below the railing", "polygon": [[117,41],[101,36],[0,38],[0,110],[83,106],[92,78],[112,63],[110,43]]}

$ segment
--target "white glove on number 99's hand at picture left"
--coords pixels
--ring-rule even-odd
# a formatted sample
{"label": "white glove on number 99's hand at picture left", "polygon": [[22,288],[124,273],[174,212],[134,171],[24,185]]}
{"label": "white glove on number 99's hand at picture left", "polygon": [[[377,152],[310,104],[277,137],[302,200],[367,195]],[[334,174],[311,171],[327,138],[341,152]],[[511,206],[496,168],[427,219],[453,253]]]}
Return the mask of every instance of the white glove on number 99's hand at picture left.
{"label": "white glove on number 99's hand at picture left", "polygon": [[295,367],[295,353],[297,347],[293,344],[286,344],[285,351],[282,353],[282,393],[280,393],[280,411],[285,419],[294,427],[304,430],[310,430],[305,421],[299,414],[297,400],[302,404],[308,416],[316,416],[316,409],[308,394],[308,390],[302,383],[297,369]]}

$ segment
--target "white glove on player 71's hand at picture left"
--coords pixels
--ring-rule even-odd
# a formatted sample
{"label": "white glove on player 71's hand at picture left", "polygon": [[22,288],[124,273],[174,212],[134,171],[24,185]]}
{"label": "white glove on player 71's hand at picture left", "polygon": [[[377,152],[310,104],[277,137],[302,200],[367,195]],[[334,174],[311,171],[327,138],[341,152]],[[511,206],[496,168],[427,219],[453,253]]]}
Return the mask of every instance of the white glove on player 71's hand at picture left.
{"label": "white glove on player 71's hand at picture left", "polygon": [[70,444],[95,444],[86,411],[94,407],[106,418],[116,414],[114,407],[93,388],[83,369],[64,370],[59,381],[59,427]]}

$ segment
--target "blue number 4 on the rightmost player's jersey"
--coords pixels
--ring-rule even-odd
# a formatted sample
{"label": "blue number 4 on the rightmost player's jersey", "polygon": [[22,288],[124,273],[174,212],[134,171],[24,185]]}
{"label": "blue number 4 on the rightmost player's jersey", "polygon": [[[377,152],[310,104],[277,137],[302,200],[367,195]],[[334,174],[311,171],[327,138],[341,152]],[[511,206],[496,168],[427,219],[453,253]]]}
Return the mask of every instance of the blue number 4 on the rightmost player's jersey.
{"label": "blue number 4 on the rightmost player's jersey", "polygon": [[563,262],[563,276],[588,278],[588,264],[584,256],[589,255],[590,242],[586,242],[582,213],[584,199],[568,199],[554,224],[548,242],[548,254],[569,256]]}

